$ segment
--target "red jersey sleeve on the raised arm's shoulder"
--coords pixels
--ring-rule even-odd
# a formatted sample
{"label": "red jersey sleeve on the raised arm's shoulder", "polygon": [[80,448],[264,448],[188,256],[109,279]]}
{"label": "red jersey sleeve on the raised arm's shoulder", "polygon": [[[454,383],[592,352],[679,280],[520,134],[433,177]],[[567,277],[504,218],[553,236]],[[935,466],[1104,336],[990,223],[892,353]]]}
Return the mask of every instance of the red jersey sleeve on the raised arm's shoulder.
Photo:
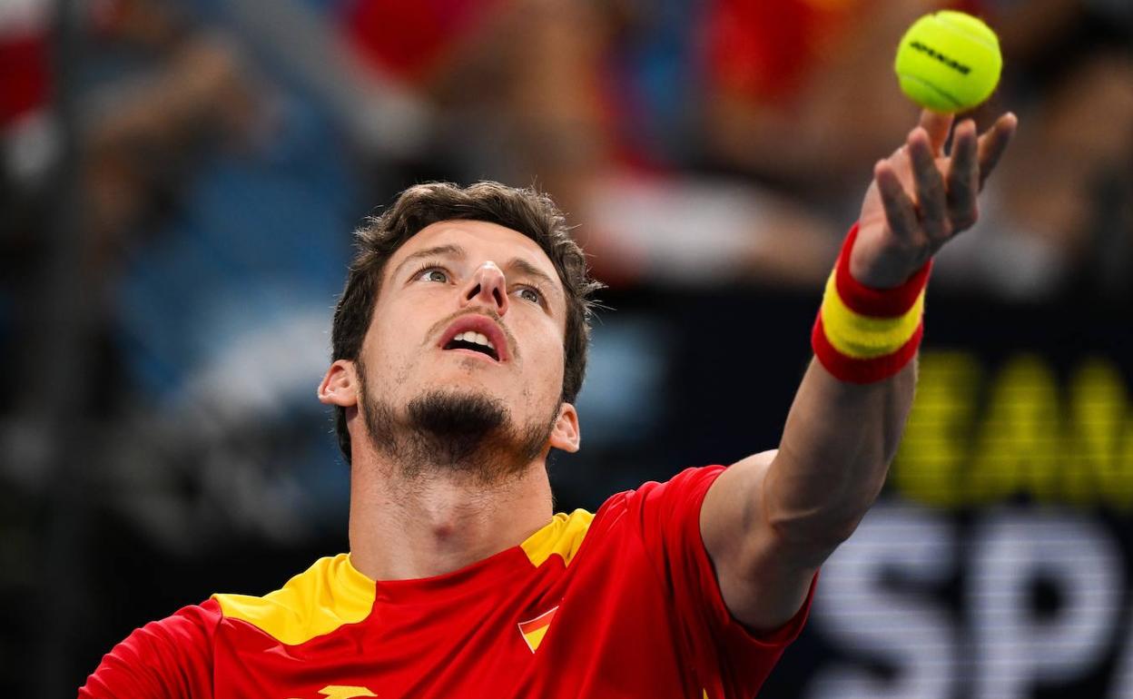
{"label": "red jersey sleeve on the raised arm's shoulder", "polygon": [[716,572],[700,536],[700,505],[724,467],[690,468],[667,483],[649,483],[629,503],[637,509],[646,549],[670,588],[687,650],[706,694],[755,694],[786,647],[799,636],[815,583],[799,613],[782,628],[749,632],[724,605]]}

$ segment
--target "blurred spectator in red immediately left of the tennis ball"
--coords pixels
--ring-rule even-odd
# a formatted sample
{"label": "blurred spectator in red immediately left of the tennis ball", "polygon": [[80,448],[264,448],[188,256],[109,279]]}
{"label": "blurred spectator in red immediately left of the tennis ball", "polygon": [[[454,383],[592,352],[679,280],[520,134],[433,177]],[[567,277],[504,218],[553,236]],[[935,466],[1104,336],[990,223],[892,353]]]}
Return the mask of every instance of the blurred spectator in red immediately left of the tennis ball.
{"label": "blurred spectator in red immediately left of the tennis ball", "polygon": [[917,17],[955,5],[709,3],[705,136],[713,155],[766,180],[860,199],[874,162],[917,119],[893,75],[897,42]]}

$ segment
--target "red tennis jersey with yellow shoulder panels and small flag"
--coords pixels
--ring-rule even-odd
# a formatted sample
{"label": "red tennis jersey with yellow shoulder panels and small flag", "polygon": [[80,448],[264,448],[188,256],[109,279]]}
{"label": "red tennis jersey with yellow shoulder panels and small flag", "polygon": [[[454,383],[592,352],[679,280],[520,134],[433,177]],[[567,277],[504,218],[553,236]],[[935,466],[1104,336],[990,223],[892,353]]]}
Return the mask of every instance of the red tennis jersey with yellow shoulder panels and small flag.
{"label": "red tennis jersey with yellow shoulder panels and small flag", "polygon": [[214,595],[134,631],[79,697],[751,697],[810,597],[763,637],[731,617],[699,525],[723,470],[556,514],[435,578],[375,582],[340,554],[263,597]]}

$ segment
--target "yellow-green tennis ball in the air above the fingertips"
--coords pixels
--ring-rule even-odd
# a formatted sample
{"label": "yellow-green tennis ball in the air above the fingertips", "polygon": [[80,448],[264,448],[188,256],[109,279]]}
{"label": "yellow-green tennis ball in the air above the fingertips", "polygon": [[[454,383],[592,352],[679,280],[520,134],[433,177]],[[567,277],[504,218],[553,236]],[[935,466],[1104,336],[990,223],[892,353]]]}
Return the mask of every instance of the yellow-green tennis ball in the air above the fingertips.
{"label": "yellow-green tennis ball in the air above the fingertips", "polygon": [[1003,56],[991,28],[964,12],[942,10],[913,23],[893,65],[901,89],[932,111],[964,111],[999,83]]}

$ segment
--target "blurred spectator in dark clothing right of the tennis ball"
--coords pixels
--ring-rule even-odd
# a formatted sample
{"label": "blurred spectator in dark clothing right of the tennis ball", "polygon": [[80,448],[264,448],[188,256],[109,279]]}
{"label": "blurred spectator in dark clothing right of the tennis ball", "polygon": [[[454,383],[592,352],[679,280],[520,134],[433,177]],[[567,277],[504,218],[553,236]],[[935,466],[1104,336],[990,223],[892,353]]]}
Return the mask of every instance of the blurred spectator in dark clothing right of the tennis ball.
{"label": "blurred spectator in dark clothing right of the tennis ball", "polygon": [[[939,259],[946,284],[1012,299],[1133,291],[1133,37],[1130,12],[1077,0],[995,2],[1012,156],[968,240]],[[1122,17],[1125,17],[1123,20]]]}

